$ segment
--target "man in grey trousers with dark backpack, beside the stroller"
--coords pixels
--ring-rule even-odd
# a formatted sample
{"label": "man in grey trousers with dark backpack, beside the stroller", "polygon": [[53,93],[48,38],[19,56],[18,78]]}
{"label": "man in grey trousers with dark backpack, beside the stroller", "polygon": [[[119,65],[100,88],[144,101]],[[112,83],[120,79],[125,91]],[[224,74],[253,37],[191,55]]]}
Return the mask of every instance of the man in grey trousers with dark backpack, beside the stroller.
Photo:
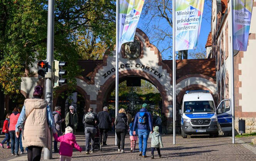
{"label": "man in grey trousers with dark backpack, beside the stroller", "polygon": [[[85,133],[85,154],[94,153],[94,140],[95,134],[97,131],[96,125],[99,124],[99,118],[97,117],[96,113],[93,113],[93,108],[90,107],[88,113],[84,114],[83,123],[84,123],[84,133]],[[91,147],[90,147],[91,143]]]}

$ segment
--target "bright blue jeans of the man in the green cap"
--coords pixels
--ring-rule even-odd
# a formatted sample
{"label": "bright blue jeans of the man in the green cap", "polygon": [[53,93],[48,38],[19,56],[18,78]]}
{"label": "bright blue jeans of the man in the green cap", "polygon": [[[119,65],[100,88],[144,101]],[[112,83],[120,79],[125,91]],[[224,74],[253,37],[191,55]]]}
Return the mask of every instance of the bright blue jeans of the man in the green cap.
{"label": "bright blue jeans of the man in the green cap", "polygon": [[[139,151],[142,151],[142,155],[145,156],[147,151],[147,138],[149,137],[149,130],[138,130],[138,135],[139,135]],[[142,146],[142,142],[143,142],[143,146]]]}

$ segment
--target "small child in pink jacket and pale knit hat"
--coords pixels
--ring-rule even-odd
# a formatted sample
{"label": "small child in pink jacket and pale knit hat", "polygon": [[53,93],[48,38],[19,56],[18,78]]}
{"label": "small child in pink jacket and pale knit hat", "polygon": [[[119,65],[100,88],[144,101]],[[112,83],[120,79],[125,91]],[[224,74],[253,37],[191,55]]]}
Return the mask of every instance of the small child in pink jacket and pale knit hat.
{"label": "small child in pink jacket and pale knit hat", "polygon": [[73,134],[73,129],[70,126],[67,126],[65,128],[65,135],[58,136],[54,133],[54,139],[55,141],[60,142],[60,161],[71,161],[72,153],[73,153],[73,147],[77,149],[78,151],[82,151],[82,148],[77,144],[75,141],[75,135]]}

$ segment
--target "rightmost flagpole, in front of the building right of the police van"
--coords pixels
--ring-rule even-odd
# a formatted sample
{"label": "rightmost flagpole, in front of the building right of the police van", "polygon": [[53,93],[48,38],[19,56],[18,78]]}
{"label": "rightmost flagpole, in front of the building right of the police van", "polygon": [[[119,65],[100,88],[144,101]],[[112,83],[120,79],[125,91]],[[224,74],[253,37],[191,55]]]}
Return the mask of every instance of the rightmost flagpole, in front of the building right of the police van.
{"label": "rightmost flagpole, in front of the building right of the police van", "polygon": [[233,25],[233,0],[230,1],[230,23],[231,23],[231,108],[232,108],[232,143],[235,143],[235,96],[234,96],[234,44],[233,44],[233,35],[234,35],[234,25]]}

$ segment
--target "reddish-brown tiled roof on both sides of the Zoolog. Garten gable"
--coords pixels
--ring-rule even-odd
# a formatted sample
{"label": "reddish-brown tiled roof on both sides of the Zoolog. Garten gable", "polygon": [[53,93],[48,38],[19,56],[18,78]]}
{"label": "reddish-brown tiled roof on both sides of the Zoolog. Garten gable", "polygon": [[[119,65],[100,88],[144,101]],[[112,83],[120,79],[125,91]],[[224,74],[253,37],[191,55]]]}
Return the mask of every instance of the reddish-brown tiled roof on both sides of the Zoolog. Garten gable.
{"label": "reddish-brown tiled roof on both sides of the Zoolog. Garten gable", "polygon": [[[83,77],[90,77],[95,67],[102,63],[102,60],[79,60],[78,64],[84,71]],[[172,70],[172,60],[163,60]],[[182,59],[176,61],[176,79],[188,74],[203,74],[215,79],[215,59]]]}

